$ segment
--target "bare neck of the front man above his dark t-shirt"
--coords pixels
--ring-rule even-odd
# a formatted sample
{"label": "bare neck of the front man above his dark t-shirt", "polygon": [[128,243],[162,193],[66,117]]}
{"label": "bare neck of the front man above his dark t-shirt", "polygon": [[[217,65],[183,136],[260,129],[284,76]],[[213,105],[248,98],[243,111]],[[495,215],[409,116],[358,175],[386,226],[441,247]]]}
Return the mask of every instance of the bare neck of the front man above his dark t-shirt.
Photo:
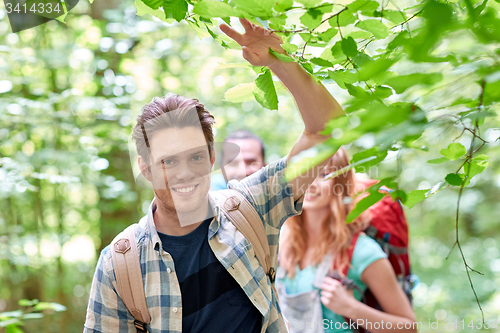
{"label": "bare neck of the front man above his dark t-shirt", "polygon": [[153,213],[153,220],[156,230],[170,236],[187,235],[209,217],[210,205],[208,201],[202,207],[188,213],[172,211],[168,207],[164,207],[159,200],[155,200],[155,204],[157,206]]}

